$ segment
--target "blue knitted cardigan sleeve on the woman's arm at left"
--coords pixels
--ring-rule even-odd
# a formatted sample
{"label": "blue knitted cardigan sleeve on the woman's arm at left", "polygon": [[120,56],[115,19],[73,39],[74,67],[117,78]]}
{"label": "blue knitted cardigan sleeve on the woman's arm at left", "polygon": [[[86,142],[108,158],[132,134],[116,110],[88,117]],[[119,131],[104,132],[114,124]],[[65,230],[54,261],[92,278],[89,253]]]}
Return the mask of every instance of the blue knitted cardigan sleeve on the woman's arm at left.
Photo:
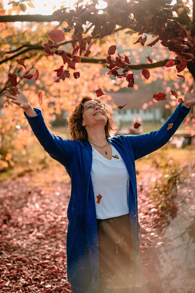
{"label": "blue knitted cardigan sleeve on the woman's arm at left", "polygon": [[36,116],[27,116],[24,111],[32,131],[39,140],[43,149],[55,160],[59,161],[65,168],[68,168],[75,154],[75,143],[69,139],[63,139],[58,135],[54,135],[46,126],[42,110],[33,108],[37,113]]}

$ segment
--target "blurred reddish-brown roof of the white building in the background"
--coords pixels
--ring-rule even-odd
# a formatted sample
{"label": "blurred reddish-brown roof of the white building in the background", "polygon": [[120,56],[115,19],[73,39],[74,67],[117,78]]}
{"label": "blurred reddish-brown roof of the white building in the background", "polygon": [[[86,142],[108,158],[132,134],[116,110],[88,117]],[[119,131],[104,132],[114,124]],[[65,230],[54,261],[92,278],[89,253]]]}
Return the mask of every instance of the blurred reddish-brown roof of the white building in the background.
{"label": "blurred reddish-brown roof of the white building in the background", "polygon": [[[111,92],[107,93],[112,97],[112,101],[117,105],[124,105],[125,109],[140,109],[144,103],[153,102],[153,93],[146,91],[134,91],[133,93],[128,92]],[[157,103],[153,102],[152,105],[147,105],[147,108],[161,108],[167,103],[166,100],[160,100]]]}

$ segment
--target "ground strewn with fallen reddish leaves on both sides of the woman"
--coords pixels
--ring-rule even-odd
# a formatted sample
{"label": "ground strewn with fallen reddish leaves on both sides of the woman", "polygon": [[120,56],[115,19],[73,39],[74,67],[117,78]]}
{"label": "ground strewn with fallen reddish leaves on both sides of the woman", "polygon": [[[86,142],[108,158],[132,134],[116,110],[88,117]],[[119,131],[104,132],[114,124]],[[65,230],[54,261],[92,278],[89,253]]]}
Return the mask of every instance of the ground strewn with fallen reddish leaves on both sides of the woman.
{"label": "ground strewn with fallen reddish leaves on both sides of the woman", "polygon": [[[145,293],[195,292],[194,163],[163,215],[148,197],[155,168],[137,175]],[[66,273],[70,179],[47,168],[0,185],[0,292],[72,292]]]}

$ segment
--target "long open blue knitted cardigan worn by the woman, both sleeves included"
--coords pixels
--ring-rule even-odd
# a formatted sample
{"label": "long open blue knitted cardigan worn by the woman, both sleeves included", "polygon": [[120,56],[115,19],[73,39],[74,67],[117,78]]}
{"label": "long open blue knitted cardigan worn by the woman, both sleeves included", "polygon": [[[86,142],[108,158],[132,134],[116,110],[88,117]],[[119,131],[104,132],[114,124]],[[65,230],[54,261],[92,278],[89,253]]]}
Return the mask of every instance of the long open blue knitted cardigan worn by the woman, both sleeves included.
{"label": "long open blue knitted cardigan worn by the woman, both sleeves included", "polygon": [[[132,249],[140,257],[140,224],[137,210],[135,160],[166,144],[191,108],[179,104],[158,131],[140,135],[117,135],[108,139],[123,161],[130,176],[128,207]],[[92,147],[88,141],[71,141],[52,134],[45,125],[42,111],[27,120],[43,148],[59,161],[71,178],[71,197],[67,209],[67,279],[73,293],[99,293],[99,250],[95,197],[90,176]],[[168,130],[168,124],[173,127]]]}

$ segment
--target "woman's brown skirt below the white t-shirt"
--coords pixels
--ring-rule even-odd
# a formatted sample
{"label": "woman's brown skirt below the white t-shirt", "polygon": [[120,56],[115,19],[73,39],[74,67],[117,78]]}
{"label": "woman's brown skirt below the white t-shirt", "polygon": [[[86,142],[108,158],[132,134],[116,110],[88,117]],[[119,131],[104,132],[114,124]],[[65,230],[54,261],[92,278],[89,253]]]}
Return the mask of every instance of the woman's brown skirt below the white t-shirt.
{"label": "woman's brown skirt below the white t-shirt", "polygon": [[143,272],[139,253],[131,248],[129,214],[97,219],[100,293],[142,293]]}

